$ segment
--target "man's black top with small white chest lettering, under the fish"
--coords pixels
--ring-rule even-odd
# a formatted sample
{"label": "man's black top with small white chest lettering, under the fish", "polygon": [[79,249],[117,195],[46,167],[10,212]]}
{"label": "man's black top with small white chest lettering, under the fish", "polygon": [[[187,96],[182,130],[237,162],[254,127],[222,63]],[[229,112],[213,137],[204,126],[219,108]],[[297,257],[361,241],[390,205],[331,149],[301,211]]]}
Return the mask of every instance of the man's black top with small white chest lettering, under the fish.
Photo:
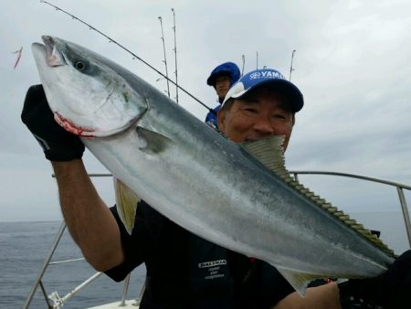
{"label": "man's black top with small white chest lettering, under the fish", "polygon": [[143,201],[132,235],[116,209],[111,211],[121,229],[125,261],[106,273],[119,282],[145,262],[141,309],[269,308],[293,292],[268,263],[204,240]]}

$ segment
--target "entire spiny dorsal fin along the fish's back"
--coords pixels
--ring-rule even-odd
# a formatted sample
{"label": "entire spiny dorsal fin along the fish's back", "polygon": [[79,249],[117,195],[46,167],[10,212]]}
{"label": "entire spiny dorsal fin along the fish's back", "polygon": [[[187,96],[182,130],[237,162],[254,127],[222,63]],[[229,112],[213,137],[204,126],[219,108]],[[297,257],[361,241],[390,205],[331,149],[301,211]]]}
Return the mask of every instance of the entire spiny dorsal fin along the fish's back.
{"label": "entire spiny dorsal fin along the fish's back", "polygon": [[319,207],[331,213],[334,217],[339,218],[346,225],[354,229],[357,233],[362,235],[367,240],[374,243],[375,246],[384,250],[390,256],[395,256],[394,250],[388,248],[388,246],[375,236],[369,229],[365,229],[362,224],[359,224],[353,218],[350,218],[342,210],[335,208],[331,203],[325,199],[313,193],[309,188],[300,184],[300,182],[290,176],[290,172],[285,166],[285,159],[282,150],[282,143],[284,141],[283,136],[271,136],[268,138],[259,139],[256,141],[242,143],[241,146],[257,159],[262,165],[269,168],[289,186],[294,187],[300,194],[311,199]]}

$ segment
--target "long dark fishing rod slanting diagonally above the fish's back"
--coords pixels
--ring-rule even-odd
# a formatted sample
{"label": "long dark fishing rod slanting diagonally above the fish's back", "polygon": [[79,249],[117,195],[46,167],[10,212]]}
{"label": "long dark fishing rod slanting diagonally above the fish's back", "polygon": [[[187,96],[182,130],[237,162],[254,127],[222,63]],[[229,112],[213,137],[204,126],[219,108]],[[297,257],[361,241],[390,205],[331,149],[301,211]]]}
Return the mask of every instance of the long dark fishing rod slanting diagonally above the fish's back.
{"label": "long dark fishing rod slanting diagonally above the fish's back", "polygon": [[191,94],[190,92],[186,91],[183,87],[177,85],[173,80],[170,80],[168,77],[166,77],[160,70],[155,69],[150,63],[144,61],[143,59],[141,59],[139,56],[137,56],[136,54],[134,54],[130,49],[125,48],[124,46],[122,46],[119,42],[117,42],[115,39],[112,39],[111,37],[107,36],[106,34],[102,33],[99,29],[97,29],[96,27],[92,27],[90,24],[86,23],[85,21],[81,20],[79,17],[76,17],[70,13],[68,13],[68,11],[65,11],[61,8],[59,8],[57,5],[52,5],[47,1],[44,0],[40,0],[41,3],[44,3],[46,5],[50,5],[53,6],[57,11],[61,11],[64,14],[70,16],[72,19],[75,19],[77,21],[79,21],[81,24],[86,25],[87,27],[90,28],[90,30],[96,31],[97,33],[99,33],[101,36],[106,37],[109,39],[109,42],[114,43],[115,45],[117,45],[119,48],[127,51],[129,54],[132,55],[132,59],[138,59],[140,61],[142,61],[143,64],[145,64],[147,67],[149,67],[150,69],[153,69],[157,74],[161,75],[164,79],[169,80],[171,83],[173,83],[176,87],[178,87],[181,91],[184,91],[185,94],[187,94],[190,98],[194,99],[195,101],[197,101],[198,103],[200,103],[201,105],[203,105],[208,112],[212,112],[213,114],[216,114],[215,111],[213,111],[213,109],[209,108],[207,105],[205,105],[205,103],[203,103],[202,101],[198,100],[197,98],[195,98],[195,96],[193,94]]}

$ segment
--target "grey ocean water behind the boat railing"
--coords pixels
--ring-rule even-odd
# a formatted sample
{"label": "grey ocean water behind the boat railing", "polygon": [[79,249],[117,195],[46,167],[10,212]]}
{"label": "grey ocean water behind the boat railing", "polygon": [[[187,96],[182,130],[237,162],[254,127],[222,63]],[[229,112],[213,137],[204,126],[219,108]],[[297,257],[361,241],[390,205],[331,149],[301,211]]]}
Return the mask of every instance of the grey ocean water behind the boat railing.
{"label": "grey ocean water behind the boat railing", "polygon": [[[353,213],[353,218],[368,229],[381,231],[381,238],[395,253],[409,248],[404,219],[399,212]],[[0,222],[0,308],[22,308],[43,266],[58,233],[61,222]],[[51,261],[77,259],[81,252],[64,232]],[[86,261],[50,265],[43,277],[47,294],[57,291],[63,297],[95,271]],[[141,291],[145,269],[132,272],[128,299],[136,298]],[[123,284],[101,275],[83,290],[76,293],[64,308],[87,308],[98,304],[120,301]],[[47,303],[37,288],[29,308],[47,308]]]}

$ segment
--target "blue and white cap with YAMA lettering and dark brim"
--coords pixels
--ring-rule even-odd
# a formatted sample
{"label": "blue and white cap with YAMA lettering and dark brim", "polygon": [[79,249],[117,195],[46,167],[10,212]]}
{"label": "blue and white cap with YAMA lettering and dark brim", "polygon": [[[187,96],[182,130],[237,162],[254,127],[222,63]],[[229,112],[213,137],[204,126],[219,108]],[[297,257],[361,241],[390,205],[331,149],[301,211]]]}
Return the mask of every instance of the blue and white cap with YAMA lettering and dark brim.
{"label": "blue and white cap with YAMA lettering and dark brim", "polygon": [[227,92],[221,107],[231,98],[238,99],[248,91],[265,85],[282,93],[290,100],[292,112],[299,112],[304,105],[301,91],[276,69],[256,69],[241,77]]}

